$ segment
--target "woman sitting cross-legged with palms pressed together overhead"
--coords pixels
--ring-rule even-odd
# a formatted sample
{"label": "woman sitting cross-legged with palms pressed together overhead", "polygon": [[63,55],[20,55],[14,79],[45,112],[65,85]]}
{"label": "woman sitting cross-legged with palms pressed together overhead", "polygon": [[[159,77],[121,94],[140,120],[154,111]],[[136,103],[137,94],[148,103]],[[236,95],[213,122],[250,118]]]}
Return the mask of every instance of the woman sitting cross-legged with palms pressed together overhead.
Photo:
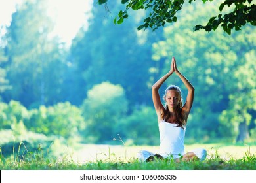
{"label": "woman sitting cross-legged with palms pressed together overhead", "polygon": [[[158,90],[173,73],[181,78],[188,89],[188,95],[186,96],[186,102],[182,106],[181,89],[178,86],[171,85],[165,90],[165,95],[163,96],[166,103],[164,107]],[[155,158],[173,158],[177,162],[181,160],[189,161],[190,159],[203,161],[207,156],[207,152],[203,148],[184,153],[186,122],[194,100],[194,87],[179,72],[174,57],[172,58],[169,72],[152,86],[152,99],[158,116],[160,150],[157,154],[142,150],[139,152],[139,160],[150,161]]]}

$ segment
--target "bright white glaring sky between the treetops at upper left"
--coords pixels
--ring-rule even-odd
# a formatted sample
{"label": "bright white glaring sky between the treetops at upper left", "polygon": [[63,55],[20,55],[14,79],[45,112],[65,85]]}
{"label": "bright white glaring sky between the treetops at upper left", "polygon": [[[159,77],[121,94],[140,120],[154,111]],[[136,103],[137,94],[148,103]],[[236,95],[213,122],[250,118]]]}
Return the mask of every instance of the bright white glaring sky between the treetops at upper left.
{"label": "bright white glaring sky between the treetops at upper left", "polygon": [[[9,26],[16,5],[24,0],[0,0],[0,27]],[[71,44],[81,26],[87,25],[93,0],[45,0],[48,3],[47,14],[53,19],[53,35],[60,37],[62,42]],[[5,29],[0,30],[0,36]]]}

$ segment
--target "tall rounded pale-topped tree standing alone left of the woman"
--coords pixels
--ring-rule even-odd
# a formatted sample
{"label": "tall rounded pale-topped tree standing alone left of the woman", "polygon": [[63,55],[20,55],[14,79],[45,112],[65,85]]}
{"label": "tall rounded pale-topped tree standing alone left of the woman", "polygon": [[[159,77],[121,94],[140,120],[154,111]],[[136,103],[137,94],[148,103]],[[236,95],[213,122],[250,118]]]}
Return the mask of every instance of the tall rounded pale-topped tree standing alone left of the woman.
{"label": "tall rounded pale-topped tree standing alone left of the woman", "polygon": [[102,82],[93,86],[81,105],[86,123],[85,141],[108,142],[116,137],[114,129],[125,116],[127,107],[125,90],[120,85]]}

